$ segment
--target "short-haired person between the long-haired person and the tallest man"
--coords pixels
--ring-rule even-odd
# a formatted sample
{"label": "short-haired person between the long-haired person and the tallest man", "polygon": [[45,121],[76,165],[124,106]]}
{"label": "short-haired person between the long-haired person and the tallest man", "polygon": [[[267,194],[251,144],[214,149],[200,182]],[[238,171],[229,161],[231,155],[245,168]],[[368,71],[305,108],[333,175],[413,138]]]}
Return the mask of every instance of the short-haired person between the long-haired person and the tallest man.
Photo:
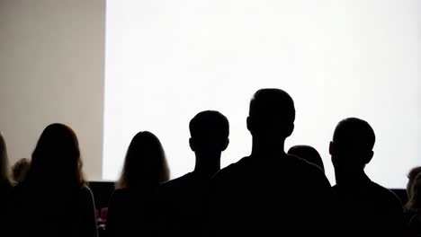
{"label": "short-haired person between the long-haired person and the tallest man", "polygon": [[194,171],[160,187],[164,203],[159,226],[161,236],[200,236],[206,223],[210,178],[220,169],[220,155],[228,146],[228,119],[218,111],[206,110],[190,121],[190,147],[195,154]]}

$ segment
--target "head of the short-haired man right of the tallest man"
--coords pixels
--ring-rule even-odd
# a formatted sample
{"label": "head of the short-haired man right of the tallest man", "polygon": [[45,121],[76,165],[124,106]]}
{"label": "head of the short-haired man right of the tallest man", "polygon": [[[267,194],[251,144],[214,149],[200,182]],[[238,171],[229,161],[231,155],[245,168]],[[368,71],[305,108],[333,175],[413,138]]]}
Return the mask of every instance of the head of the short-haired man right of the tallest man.
{"label": "head of the short-haired man right of the tallest man", "polygon": [[329,148],[335,168],[363,169],[372,160],[375,139],[372,127],[363,119],[340,121]]}

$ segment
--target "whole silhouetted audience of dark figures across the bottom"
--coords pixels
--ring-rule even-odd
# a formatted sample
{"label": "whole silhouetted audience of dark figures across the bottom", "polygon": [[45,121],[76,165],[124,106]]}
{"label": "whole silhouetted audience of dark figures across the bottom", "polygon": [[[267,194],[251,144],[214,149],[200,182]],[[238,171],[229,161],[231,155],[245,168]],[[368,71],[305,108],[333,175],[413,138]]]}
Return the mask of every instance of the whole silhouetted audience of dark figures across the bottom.
{"label": "whole silhouetted audience of dark figures across the bottom", "polygon": [[[287,92],[258,90],[246,118],[251,154],[220,170],[228,119],[202,111],[189,124],[194,170],[170,181],[161,142],[139,132],[115,183],[104,234],[421,237],[421,167],[408,173],[402,208],[393,192],[364,171],[374,154],[372,127],[345,118],[329,146],[336,176],[331,188],[314,147],[294,145],[285,153],[294,121]],[[75,132],[56,123],[44,129],[31,160],[13,165],[11,179],[0,133],[0,236],[96,237],[94,197],[82,167]]]}

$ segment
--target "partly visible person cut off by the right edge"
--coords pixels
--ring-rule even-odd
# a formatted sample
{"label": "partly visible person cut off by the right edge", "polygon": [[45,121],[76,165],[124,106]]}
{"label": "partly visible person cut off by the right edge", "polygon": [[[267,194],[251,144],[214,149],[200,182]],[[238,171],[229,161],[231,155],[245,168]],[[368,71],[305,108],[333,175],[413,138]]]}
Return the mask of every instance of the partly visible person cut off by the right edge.
{"label": "partly visible person cut off by the right edge", "polygon": [[416,167],[408,174],[408,202],[405,205],[405,224],[408,236],[421,236],[421,167]]}

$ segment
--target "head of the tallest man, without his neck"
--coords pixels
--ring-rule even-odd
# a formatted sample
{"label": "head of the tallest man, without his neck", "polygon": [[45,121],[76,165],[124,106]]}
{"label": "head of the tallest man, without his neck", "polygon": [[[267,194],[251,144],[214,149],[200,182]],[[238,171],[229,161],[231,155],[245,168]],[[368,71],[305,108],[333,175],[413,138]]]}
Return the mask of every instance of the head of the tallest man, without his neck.
{"label": "head of the tallest man, without his neck", "polygon": [[285,140],[294,128],[295,108],[291,96],[281,89],[261,89],[250,101],[247,128],[252,136]]}

